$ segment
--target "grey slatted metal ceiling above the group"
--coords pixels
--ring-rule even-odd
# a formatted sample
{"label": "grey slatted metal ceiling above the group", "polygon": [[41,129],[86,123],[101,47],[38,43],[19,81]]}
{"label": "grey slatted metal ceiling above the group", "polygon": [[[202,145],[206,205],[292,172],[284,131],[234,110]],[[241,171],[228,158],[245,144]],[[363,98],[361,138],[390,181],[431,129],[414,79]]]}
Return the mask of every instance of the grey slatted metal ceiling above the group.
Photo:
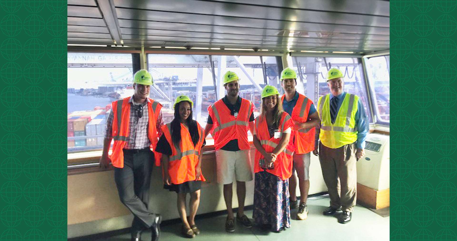
{"label": "grey slatted metal ceiling above the group", "polygon": [[389,3],[383,0],[113,2],[117,20],[104,20],[102,12],[113,13],[96,0],[68,0],[68,42],[111,45],[110,29],[120,29],[125,45],[145,47],[370,52],[390,43]]}

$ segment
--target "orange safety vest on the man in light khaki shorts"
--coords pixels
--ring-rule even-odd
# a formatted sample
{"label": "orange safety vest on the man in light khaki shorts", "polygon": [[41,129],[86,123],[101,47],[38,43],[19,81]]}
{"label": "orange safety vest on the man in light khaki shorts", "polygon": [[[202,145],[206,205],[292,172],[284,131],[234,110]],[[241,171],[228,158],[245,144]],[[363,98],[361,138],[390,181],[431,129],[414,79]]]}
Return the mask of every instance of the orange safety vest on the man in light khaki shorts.
{"label": "orange safety vest on the man in light khaki shorts", "polygon": [[219,150],[229,141],[238,139],[239,149],[249,150],[249,118],[253,112],[252,102],[243,98],[241,98],[241,107],[236,117],[231,115],[222,99],[208,107],[208,114],[213,119],[214,125],[211,132],[214,138],[214,149]]}

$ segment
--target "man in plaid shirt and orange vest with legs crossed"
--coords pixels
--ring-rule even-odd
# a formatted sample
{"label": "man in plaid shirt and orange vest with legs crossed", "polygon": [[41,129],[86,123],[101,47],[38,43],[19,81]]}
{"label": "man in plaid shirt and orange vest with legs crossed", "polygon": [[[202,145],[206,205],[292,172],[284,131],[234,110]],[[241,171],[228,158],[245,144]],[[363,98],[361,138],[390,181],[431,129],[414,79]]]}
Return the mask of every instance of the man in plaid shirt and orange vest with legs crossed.
{"label": "man in plaid shirt and orange vest with legs crossed", "polygon": [[[100,158],[102,168],[112,162],[121,202],[134,215],[133,241],[141,240],[141,232],[147,228],[152,230],[152,241],[158,240],[160,235],[161,216],[148,210],[149,183],[154,165],[154,153],[150,146],[157,143],[164,122],[162,105],[148,98],[151,85],[152,76],[146,70],[139,70],[133,79],[134,95],[113,102],[112,112],[106,121],[103,154]],[[149,113],[151,110],[152,113]],[[149,120],[149,116],[154,119]],[[128,120],[122,119],[126,117]],[[113,138],[115,144],[110,157],[108,151]],[[155,143],[151,143],[151,140],[155,140]]]}

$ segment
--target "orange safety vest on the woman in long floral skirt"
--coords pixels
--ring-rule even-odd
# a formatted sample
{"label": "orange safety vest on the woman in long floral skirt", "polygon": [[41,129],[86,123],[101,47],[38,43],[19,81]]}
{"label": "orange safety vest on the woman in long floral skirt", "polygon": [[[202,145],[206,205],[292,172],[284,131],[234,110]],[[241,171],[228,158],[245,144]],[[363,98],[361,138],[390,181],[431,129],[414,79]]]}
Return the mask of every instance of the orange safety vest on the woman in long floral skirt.
{"label": "orange safety vest on the woman in long floral skirt", "polygon": [[[289,114],[287,114],[287,112],[282,113],[280,125],[281,136],[279,139],[275,139],[274,136],[270,138],[266,118],[261,116],[255,118],[255,135],[257,136],[257,139],[259,139],[260,144],[262,144],[262,147],[266,152],[272,152],[275,150],[276,146],[282,138],[284,130],[289,127],[293,128],[292,118],[289,116]],[[284,150],[279,155],[277,155],[276,161],[274,162],[275,168],[265,170],[277,177],[281,177],[282,180],[286,180],[292,176],[292,155],[294,151],[293,135],[294,132],[292,131],[289,143],[287,144],[286,148],[284,148]],[[263,158],[264,156],[260,153],[260,151],[255,150],[254,172],[264,171],[264,169],[259,165],[260,159]]]}

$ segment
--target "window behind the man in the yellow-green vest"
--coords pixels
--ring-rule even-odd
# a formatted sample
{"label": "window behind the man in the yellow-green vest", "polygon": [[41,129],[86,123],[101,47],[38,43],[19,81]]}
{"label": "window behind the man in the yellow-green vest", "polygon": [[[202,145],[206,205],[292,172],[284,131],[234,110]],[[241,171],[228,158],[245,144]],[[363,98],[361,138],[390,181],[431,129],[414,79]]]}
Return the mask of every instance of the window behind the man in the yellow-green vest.
{"label": "window behind the man in the yellow-green vest", "polygon": [[330,68],[340,69],[344,74],[344,91],[361,98],[370,123],[372,116],[369,111],[368,96],[359,58],[329,57],[292,57],[293,68],[297,72],[297,91],[304,93],[317,106],[319,97],[330,93],[326,75]]}

